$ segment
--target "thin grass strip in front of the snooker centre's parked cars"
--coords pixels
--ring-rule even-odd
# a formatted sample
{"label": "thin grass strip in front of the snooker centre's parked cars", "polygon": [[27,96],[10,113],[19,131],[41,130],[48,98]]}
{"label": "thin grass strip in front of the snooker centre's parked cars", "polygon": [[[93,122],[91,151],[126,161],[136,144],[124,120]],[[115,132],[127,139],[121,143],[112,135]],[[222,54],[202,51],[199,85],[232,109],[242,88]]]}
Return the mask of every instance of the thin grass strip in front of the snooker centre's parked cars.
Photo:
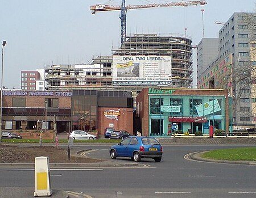
{"label": "thin grass strip in front of the snooker centre's parked cars", "polygon": [[[2,139],[3,143],[10,143],[10,144],[21,144],[21,143],[34,143],[34,144],[39,144],[39,139],[36,140],[31,140],[31,139]],[[117,144],[118,142],[121,142],[121,140],[109,140],[109,139],[98,139],[98,140],[73,140],[73,143],[88,143],[88,144],[97,144],[97,143],[112,143],[112,144]],[[43,139],[43,144],[44,143],[55,143],[53,140],[44,140]],[[67,143],[68,140],[59,140],[59,144],[61,143]]]}

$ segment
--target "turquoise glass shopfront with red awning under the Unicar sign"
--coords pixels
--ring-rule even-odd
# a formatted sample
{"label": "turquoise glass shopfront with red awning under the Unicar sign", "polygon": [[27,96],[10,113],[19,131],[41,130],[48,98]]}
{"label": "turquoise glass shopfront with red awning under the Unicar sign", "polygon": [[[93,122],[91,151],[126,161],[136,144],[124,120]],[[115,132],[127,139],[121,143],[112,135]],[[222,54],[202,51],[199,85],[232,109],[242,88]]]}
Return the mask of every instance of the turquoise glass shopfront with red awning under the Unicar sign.
{"label": "turquoise glass shopfront with red awning under the Unicar sign", "polygon": [[149,134],[168,136],[172,125],[182,133],[201,131],[209,134],[209,125],[225,130],[224,96],[148,95]]}

